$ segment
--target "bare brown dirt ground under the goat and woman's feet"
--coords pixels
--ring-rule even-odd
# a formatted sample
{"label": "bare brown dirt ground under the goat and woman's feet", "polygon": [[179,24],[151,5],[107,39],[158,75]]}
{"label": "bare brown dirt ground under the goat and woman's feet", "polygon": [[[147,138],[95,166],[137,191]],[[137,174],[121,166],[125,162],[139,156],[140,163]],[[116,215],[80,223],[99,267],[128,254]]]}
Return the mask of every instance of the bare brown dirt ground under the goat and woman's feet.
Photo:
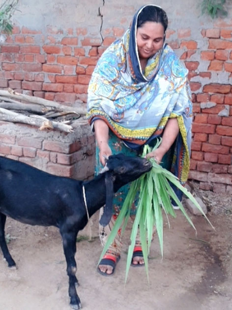
{"label": "bare brown dirt ground under the goat and woman's feet", "polygon": [[[128,236],[115,275],[96,272],[101,253],[98,238],[77,243],[78,294],[85,310],[232,310],[232,198],[198,191],[207,204],[208,217],[191,216],[198,234],[176,211],[171,228],[164,227],[164,257],[157,238],[149,259],[150,285],[144,268],[130,268],[126,285]],[[97,236],[97,215],[93,217]],[[127,231],[127,235],[129,229]],[[0,252],[0,310],[68,310],[66,263],[61,237],[54,227],[6,222],[9,249],[17,270],[7,268]]]}

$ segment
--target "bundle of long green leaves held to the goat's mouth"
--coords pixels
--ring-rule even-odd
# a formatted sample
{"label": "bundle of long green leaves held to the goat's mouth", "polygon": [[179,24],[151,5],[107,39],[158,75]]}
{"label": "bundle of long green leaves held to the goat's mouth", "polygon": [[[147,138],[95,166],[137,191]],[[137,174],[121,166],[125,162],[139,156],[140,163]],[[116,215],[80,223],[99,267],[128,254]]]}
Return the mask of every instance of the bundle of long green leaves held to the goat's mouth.
{"label": "bundle of long green leaves held to the goat's mouth", "polygon": [[[156,149],[160,145],[160,143],[161,140],[157,142],[153,150]],[[142,157],[145,157],[146,154],[153,150],[151,150],[149,146],[145,145]],[[138,195],[139,192],[137,212],[130,236],[131,243],[128,248],[125,281],[128,277],[133,250],[136,242],[136,236],[139,229],[143,256],[145,260],[145,270],[149,282],[148,254],[152,241],[153,231],[154,228],[157,231],[161,255],[163,257],[163,213],[167,216],[167,218],[168,215],[176,217],[172,205],[172,200],[175,201],[176,205],[179,207],[183,215],[187,218],[190,225],[192,225],[192,227],[196,230],[191,218],[186,213],[182,203],[176,196],[170,183],[182,190],[182,192],[195,204],[195,206],[201,211],[203,216],[212,226],[208,218],[205,216],[202,207],[199,205],[197,200],[184,186],[180,184],[179,180],[170,171],[164,169],[161,165],[159,165],[153,158],[150,158],[150,161],[152,162],[152,169],[136,181],[132,182],[129,192],[124,200],[122,209],[116,219],[116,223],[111,231],[111,234],[108,237],[108,240],[105,244],[105,247],[103,248],[101,257],[99,259],[100,262],[106,250],[114,241],[116,233],[120,227],[122,227],[121,236],[123,235],[125,228],[128,224],[128,220],[130,218],[130,209],[132,203],[134,202],[135,197],[136,195]]]}

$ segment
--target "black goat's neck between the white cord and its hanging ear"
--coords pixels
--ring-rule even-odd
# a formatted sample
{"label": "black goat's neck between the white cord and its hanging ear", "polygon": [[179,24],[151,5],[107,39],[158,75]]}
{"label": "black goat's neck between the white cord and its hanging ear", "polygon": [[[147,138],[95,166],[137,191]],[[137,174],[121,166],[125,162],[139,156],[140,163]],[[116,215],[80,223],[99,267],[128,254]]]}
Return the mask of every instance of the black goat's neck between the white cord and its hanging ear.
{"label": "black goat's neck between the white cord and its hanging ear", "polygon": [[89,217],[106,203],[106,186],[104,173],[93,180],[84,182]]}

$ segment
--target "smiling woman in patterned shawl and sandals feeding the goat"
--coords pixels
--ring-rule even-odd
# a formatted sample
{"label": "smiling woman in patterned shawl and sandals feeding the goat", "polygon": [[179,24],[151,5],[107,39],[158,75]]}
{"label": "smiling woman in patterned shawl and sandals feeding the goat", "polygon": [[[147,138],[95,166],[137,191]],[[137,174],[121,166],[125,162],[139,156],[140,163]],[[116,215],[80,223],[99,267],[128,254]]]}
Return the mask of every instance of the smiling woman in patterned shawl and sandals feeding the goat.
{"label": "smiling woman in patterned shawl and sandals feeding the goat", "polygon": [[[191,143],[191,93],[187,69],[174,51],[164,44],[168,18],[156,5],[143,6],[130,29],[103,53],[88,88],[87,118],[97,142],[96,173],[105,158],[122,152],[138,155],[144,144],[156,137],[162,143],[147,157],[171,170],[182,183],[187,180]],[[114,215],[100,227],[104,245],[114,225],[129,186],[114,198]],[[180,197],[178,190],[175,191]],[[133,206],[136,213],[136,206]],[[103,275],[112,275],[121,251],[120,231],[98,266]],[[139,237],[132,266],[144,265]]]}

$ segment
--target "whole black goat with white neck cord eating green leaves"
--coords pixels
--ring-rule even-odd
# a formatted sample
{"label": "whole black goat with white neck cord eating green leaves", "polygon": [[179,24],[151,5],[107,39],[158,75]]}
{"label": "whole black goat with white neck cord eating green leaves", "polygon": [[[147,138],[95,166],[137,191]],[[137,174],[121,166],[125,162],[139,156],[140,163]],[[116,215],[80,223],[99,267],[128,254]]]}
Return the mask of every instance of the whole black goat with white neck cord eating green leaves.
{"label": "whole black goat with white neck cord eating green leaves", "polygon": [[[0,156],[0,248],[8,266],[15,266],[4,236],[6,217],[30,225],[56,226],[62,237],[69,277],[70,305],[81,309],[76,285],[76,238],[100,207],[106,225],[112,215],[113,192],[151,169],[145,158],[122,154],[107,160],[105,172],[88,182],[58,177]],[[111,193],[109,192],[111,191]],[[86,203],[85,194],[86,193]],[[88,215],[87,215],[88,212]]]}

